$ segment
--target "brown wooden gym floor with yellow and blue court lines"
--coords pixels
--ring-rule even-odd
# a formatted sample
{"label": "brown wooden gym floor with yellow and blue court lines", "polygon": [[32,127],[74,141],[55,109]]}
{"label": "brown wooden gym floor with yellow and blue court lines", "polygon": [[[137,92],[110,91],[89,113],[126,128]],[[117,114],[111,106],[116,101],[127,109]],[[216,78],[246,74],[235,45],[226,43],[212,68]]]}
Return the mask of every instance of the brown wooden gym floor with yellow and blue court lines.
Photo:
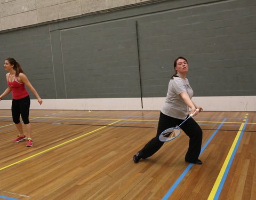
{"label": "brown wooden gym floor with yellow and blue court lines", "polygon": [[137,164],[159,111],[31,110],[33,147],[12,143],[10,110],[0,110],[0,199],[256,199],[255,112],[209,112],[203,165],[184,157],[181,133]]}

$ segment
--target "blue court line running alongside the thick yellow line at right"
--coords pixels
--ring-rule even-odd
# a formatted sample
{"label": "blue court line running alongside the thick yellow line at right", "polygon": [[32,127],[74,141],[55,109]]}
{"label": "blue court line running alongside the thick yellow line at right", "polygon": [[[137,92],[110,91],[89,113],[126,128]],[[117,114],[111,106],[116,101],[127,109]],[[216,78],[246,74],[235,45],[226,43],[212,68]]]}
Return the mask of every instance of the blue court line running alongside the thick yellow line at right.
{"label": "blue court line running alongside the thick yellow line at right", "polygon": [[[246,123],[246,122],[248,122],[248,119],[246,119],[245,123]],[[214,196],[214,198],[213,198],[214,200],[219,199],[219,196],[220,196],[221,190],[222,190],[222,188],[223,188],[223,185],[224,185],[224,183],[225,183],[225,181],[226,181],[226,178],[227,178],[227,175],[228,175],[230,166],[231,166],[231,164],[233,163],[233,160],[234,160],[234,157],[235,157],[237,148],[238,148],[238,146],[239,146],[239,143],[240,143],[240,141],[241,141],[241,138],[243,137],[243,133],[244,133],[244,130],[245,130],[245,126],[246,126],[246,124],[244,124],[243,129],[242,129],[242,131],[241,131],[241,134],[239,135],[239,138],[238,138],[238,140],[237,140],[237,142],[236,142],[236,146],[235,146],[235,148],[234,148],[234,150],[233,150],[233,153],[232,153],[232,155],[231,155],[231,157],[230,157],[230,159],[229,159],[227,168],[225,169],[225,172],[224,172],[224,174],[223,174],[223,177],[222,177],[222,179],[221,179],[221,181],[220,181],[220,185],[219,185],[219,187],[218,187],[218,189],[217,189],[217,192],[216,192],[216,194],[215,194],[215,196]]]}

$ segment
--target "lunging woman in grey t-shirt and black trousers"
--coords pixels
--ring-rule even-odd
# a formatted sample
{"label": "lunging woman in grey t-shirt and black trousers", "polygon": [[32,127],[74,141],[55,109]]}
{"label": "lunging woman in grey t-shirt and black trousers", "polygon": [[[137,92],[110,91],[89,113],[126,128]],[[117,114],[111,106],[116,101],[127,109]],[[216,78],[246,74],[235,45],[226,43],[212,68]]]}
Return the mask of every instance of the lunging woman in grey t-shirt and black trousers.
{"label": "lunging woman in grey t-shirt and black trousers", "polygon": [[[188,72],[188,62],[185,58],[179,57],[174,61],[174,70],[176,73],[172,76],[166,100],[160,113],[156,137],[151,139],[145,147],[143,147],[137,154],[133,156],[133,161],[138,163],[141,158],[145,159],[152,156],[159,150],[164,142],[159,141],[159,135],[170,127],[175,127],[181,124],[188,116],[189,108],[191,113],[194,113],[198,108],[201,112],[203,109],[196,106],[191,100],[193,97],[193,90],[191,89],[186,74]],[[185,161],[188,163],[202,164],[198,159],[201,151],[203,132],[201,127],[193,118],[189,118],[186,123],[182,124],[180,128],[189,137],[189,147],[185,156]]]}

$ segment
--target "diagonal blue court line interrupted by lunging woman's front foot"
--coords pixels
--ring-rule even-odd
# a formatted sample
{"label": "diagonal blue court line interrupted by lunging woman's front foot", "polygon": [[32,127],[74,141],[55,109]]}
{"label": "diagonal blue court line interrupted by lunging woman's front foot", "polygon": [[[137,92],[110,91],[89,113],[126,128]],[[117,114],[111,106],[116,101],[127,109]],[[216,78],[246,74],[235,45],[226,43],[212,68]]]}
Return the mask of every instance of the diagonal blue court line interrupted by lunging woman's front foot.
{"label": "diagonal blue court line interrupted by lunging woman's front foot", "polygon": [[[215,136],[215,134],[218,132],[218,130],[220,129],[220,127],[224,124],[224,122],[227,120],[227,118],[224,118],[222,123],[218,126],[217,130],[214,131],[214,133],[212,134],[212,136],[207,140],[207,142],[205,143],[205,145],[203,146],[203,148],[201,149],[201,153],[204,151],[204,149],[207,147],[207,145],[210,143],[210,141],[213,139],[213,137]],[[185,177],[185,175],[188,173],[188,171],[190,170],[191,166],[193,165],[193,163],[190,163],[187,168],[182,172],[182,174],[180,175],[180,177],[174,182],[174,184],[172,185],[172,187],[169,189],[169,191],[167,191],[167,193],[165,194],[165,196],[162,198],[162,200],[166,200],[168,199],[171,194],[173,193],[174,189],[177,188],[177,186],[179,185],[180,181]]]}

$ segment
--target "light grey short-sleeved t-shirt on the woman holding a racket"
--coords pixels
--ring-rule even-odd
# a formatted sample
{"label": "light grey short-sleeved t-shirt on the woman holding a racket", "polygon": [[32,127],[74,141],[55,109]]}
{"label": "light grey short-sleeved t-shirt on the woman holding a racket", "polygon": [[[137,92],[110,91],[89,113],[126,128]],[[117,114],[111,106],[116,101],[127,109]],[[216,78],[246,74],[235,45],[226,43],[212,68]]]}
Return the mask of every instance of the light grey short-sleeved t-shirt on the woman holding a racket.
{"label": "light grey short-sleeved t-shirt on the woman holding a racket", "polygon": [[169,82],[166,100],[161,110],[163,114],[178,119],[186,119],[189,107],[179,95],[182,92],[187,92],[190,99],[193,97],[193,90],[188,79],[173,77]]}

